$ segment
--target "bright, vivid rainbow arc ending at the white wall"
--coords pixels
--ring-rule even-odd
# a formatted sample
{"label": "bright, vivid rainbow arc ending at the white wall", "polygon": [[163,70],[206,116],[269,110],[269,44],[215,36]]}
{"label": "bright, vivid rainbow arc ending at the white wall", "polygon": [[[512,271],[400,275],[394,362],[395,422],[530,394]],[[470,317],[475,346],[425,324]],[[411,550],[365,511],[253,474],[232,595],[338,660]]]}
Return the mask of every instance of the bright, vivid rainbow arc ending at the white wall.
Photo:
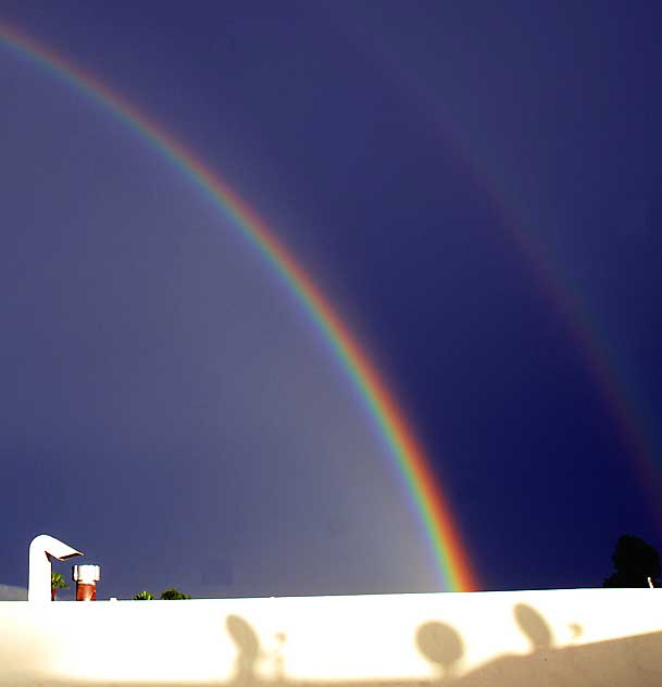
{"label": "bright, vivid rainbow arc ending at the white wall", "polygon": [[141,134],[153,148],[211,197],[216,207],[241,229],[245,238],[260,251],[304,305],[359,389],[416,504],[444,587],[455,591],[477,589],[476,577],[448,501],[392,394],[336,310],[273,230],[202,160],[98,78],[37,43],[15,27],[0,22],[0,45],[2,43],[100,102],[127,126]]}

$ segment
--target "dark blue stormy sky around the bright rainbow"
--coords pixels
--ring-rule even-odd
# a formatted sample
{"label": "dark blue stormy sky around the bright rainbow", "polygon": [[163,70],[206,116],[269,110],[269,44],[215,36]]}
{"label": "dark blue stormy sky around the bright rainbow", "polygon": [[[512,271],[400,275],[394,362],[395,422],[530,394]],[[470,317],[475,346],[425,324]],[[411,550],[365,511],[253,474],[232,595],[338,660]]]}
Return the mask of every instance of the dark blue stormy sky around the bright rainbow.
{"label": "dark blue stormy sky around the bright rainbow", "polygon": [[[619,535],[660,546],[655,3],[3,0],[0,20],[274,227],[386,373],[483,588],[600,586]],[[103,596],[435,589],[388,450],[237,230],[1,43],[0,87],[0,583],[46,530],[102,564]]]}

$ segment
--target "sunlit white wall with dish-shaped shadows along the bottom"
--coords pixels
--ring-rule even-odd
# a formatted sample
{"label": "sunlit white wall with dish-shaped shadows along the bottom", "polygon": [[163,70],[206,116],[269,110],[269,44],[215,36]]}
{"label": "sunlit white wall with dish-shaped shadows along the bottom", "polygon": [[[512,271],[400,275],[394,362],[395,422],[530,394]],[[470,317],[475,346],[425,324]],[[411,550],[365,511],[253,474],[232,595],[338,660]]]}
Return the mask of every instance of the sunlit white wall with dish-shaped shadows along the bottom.
{"label": "sunlit white wall with dish-shaped shadows along the bottom", "polygon": [[662,684],[662,590],[0,602],[0,685]]}

